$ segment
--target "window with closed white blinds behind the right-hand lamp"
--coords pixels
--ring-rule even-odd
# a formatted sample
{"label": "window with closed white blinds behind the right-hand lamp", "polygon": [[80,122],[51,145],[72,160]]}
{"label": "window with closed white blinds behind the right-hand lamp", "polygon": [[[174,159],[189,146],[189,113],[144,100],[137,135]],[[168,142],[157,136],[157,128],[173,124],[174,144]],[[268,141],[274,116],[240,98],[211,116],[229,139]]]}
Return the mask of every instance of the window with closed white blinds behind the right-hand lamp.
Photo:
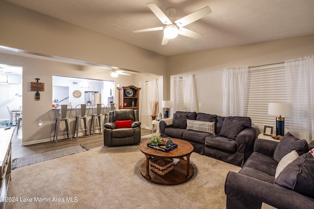
{"label": "window with closed white blinds behind the right-hand lamp", "polygon": [[[285,63],[249,68],[246,116],[262,133],[264,126],[276,128],[276,116],[268,115],[269,102],[287,102]],[[289,118],[285,118],[285,129]]]}

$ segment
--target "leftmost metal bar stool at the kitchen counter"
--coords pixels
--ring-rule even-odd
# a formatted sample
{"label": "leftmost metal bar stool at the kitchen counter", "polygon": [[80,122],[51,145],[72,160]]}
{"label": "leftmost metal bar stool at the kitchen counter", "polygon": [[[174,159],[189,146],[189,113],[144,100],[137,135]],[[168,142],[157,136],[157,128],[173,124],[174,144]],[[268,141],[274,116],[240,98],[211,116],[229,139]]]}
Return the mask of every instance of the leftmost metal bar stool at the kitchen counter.
{"label": "leftmost metal bar stool at the kitchen counter", "polygon": [[[60,107],[61,108],[58,108]],[[60,114],[61,111],[61,114]],[[69,111],[69,113],[68,113]],[[63,134],[63,133],[67,133],[67,137],[68,139],[71,138],[71,130],[70,130],[70,116],[71,116],[71,112],[72,112],[72,106],[71,105],[59,105],[54,109],[54,113],[55,113],[55,127],[54,127],[54,136],[53,136],[53,140],[55,138],[55,143],[58,141],[58,135]],[[63,132],[59,132],[59,126],[61,121],[64,120],[65,122],[65,131]]]}

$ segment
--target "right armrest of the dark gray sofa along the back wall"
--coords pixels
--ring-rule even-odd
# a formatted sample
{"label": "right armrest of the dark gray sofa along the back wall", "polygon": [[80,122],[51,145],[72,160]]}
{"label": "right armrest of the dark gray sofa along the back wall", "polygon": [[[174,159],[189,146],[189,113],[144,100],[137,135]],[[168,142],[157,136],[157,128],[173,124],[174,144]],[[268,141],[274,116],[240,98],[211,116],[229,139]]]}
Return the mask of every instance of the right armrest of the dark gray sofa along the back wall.
{"label": "right armrest of the dark gray sofa along the back wall", "polygon": [[256,130],[254,128],[243,129],[235,138],[236,151],[240,153],[247,153],[249,150],[253,151],[255,137]]}

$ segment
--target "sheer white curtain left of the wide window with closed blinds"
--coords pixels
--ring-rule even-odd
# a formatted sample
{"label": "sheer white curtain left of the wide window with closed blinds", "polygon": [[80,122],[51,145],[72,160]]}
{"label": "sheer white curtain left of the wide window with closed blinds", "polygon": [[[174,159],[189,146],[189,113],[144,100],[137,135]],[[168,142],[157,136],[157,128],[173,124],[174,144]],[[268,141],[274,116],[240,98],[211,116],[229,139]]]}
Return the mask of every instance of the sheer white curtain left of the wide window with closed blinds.
{"label": "sheer white curtain left of the wide window with closed blinds", "polygon": [[223,116],[245,116],[248,66],[223,70]]}

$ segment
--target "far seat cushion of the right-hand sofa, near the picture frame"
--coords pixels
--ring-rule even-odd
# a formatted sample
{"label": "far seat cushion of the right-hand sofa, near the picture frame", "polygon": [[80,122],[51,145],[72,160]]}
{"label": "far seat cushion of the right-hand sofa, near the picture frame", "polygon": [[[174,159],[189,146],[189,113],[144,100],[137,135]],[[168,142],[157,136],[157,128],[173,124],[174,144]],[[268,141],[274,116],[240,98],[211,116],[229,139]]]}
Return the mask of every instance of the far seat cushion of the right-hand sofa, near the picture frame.
{"label": "far seat cushion of the right-hand sofa, near the picture frame", "polygon": [[275,161],[272,157],[263,155],[259,152],[253,152],[247,159],[243,167],[254,168],[275,178],[277,166],[277,161]]}

